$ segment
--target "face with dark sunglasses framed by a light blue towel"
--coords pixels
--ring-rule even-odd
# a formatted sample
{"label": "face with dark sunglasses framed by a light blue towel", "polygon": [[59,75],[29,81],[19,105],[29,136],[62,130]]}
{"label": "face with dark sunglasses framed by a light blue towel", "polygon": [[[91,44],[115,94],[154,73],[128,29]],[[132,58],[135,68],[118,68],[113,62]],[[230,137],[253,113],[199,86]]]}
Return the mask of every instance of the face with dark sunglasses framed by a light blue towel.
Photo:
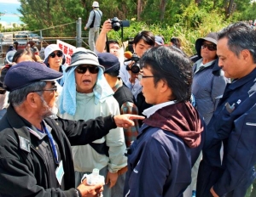
{"label": "face with dark sunglasses framed by a light blue towel", "polygon": [[98,76],[96,65],[79,65],[75,69],[75,80],[79,93],[92,93]]}

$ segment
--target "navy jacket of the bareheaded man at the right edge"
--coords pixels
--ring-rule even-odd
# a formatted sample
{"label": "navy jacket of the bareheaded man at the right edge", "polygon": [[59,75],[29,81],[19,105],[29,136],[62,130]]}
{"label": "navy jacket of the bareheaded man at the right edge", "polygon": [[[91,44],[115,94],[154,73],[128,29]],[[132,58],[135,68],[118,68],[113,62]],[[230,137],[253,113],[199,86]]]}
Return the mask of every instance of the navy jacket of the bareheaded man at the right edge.
{"label": "navy jacket of the bareheaded man at the right edge", "polygon": [[[245,186],[253,182],[253,166],[256,163],[255,92],[256,69],[227,84],[223,98],[207,126],[203,160],[212,169],[222,170],[217,183],[213,185],[219,196],[229,193],[239,196],[236,191],[246,190]],[[220,155],[222,143],[223,160]]]}

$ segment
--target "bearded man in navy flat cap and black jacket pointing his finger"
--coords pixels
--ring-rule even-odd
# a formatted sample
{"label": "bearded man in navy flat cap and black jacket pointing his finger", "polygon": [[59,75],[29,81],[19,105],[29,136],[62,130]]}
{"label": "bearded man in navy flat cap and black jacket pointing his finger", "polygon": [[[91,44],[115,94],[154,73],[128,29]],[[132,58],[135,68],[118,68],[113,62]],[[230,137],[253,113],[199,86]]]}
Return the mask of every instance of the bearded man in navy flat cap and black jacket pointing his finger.
{"label": "bearded man in navy flat cap and black jacket pointing his finger", "polygon": [[[9,108],[0,121],[1,196],[97,196],[102,184],[86,180],[74,189],[70,145],[88,144],[109,129],[133,125],[135,115],[108,115],[90,121],[50,119],[60,72],[36,62],[12,66],[4,84]],[[89,134],[89,131],[94,132]],[[14,188],[15,186],[15,188]]]}

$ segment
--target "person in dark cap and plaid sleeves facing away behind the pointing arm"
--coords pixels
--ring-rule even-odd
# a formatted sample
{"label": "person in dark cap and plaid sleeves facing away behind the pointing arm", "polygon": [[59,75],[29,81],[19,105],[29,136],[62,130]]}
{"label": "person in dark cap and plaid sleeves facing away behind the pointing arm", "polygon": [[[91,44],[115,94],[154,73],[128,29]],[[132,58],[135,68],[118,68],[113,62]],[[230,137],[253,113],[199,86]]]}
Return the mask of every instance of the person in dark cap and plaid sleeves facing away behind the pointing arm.
{"label": "person in dark cap and plaid sleeves facing away behind the pointing arm", "polygon": [[[123,81],[119,78],[120,63],[119,59],[112,53],[99,53],[98,54],[99,64],[105,68],[104,76],[113,89],[113,97],[119,103],[120,114],[132,114],[138,115],[137,106],[134,101],[134,97],[131,90],[123,85]],[[125,144],[127,147],[131,146],[131,143],[136,139],[138,134],[138,122],[135,121],[133,127],[127,129],[124,128],[125,133]],[[117,183],[113,186],[112,196],[122,196],[125,183],[125,168],[119,170],[119,177]]]}

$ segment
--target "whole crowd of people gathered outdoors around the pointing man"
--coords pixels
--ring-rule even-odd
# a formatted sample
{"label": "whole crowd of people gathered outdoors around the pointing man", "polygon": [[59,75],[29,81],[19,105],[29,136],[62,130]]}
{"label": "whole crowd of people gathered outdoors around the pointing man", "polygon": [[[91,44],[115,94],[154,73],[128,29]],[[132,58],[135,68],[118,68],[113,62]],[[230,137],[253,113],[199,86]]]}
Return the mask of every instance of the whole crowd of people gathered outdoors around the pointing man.
{"label": "whole crowd of people gathered outdoors around the pointing man", "polygon": [[[251,26],[208,32],[193,57],[178,37],[166,46],[152,31],[137,32],[122,53],[107,39],[111,20],[99,32],[102,12],[92,7],[90,49],[76,48],[71,65],[57,44],[9,52],[0,196],[253,197]],[[84,178],[95,168],[105,183]]]}

